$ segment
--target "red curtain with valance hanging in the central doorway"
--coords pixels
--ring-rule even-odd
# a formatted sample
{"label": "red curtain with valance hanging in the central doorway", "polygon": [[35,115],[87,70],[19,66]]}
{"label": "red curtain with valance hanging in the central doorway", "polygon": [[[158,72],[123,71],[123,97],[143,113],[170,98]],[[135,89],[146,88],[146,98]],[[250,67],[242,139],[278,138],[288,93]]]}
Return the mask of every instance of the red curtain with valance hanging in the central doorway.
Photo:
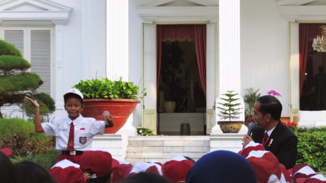
{"label": "red curtain with valance hanging in the central doorway", "polygon": [[157,89],[161,66],[162,41],[195,41],[196,59],[203,92],[206,96],[206,25],[157,25]]}

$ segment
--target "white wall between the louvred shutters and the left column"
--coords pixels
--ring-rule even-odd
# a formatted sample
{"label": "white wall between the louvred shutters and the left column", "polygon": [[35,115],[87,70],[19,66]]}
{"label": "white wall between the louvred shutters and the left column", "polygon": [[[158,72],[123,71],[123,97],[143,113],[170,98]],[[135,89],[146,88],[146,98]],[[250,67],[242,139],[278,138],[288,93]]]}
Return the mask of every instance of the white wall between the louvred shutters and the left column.
{"label": "white wall between the louvred shutters and the left column", "polygon": [[[54,98],[56,117],[66,116],[63,94],[80,80],[105,77],[105,0],[57,0],[59,4],[72,7],[69,20],[64,25],[64,53],[61,93]],[[58,76],[55,76],[58,78]],[[57,101],[60,101],[59,103]]]}

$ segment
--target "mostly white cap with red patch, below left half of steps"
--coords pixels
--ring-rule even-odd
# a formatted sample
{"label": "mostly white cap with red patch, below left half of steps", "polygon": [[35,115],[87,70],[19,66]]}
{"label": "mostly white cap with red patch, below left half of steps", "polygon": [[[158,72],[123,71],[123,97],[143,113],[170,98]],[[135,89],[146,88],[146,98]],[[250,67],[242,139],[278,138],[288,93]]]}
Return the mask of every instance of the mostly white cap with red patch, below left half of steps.
{"label": "mostly white cap with red patch, below left half of steps", "polygon": [[130,170],[129,176],[139,172],[152,172],[162,175],[161,164],[159,162],[138,162],[133,165]]}

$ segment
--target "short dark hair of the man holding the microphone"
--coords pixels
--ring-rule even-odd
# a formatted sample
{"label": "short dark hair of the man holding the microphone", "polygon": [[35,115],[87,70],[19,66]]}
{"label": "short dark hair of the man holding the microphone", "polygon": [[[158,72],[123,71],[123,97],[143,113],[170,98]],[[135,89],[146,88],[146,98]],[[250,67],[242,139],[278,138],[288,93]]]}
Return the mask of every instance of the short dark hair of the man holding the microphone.
{"label": "short dark hair of the man holding the microphone", "polygon": [[270,114],[271,117],[276,120],[281,118],[282,104],[276,97],[265,95],[259,97],[256,102],[260,103],[259,112],[261,112],[263,115]]}

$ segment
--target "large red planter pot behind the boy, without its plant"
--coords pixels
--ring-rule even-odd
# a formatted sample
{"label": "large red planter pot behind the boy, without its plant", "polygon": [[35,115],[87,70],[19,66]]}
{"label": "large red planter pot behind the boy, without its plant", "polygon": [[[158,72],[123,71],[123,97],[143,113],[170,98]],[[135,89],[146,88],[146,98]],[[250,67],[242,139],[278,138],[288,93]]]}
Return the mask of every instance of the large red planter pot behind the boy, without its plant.
{"label": "large red planter pot behind the boy, without its plant", "polygon": [[114,127],[105,128],[105,134],[115,134],[126,123],[129,115],[134,111],[140,100],[133,99],[84,99],[84,117],[94,117],[102,120],[103,111],[111,113]]}

